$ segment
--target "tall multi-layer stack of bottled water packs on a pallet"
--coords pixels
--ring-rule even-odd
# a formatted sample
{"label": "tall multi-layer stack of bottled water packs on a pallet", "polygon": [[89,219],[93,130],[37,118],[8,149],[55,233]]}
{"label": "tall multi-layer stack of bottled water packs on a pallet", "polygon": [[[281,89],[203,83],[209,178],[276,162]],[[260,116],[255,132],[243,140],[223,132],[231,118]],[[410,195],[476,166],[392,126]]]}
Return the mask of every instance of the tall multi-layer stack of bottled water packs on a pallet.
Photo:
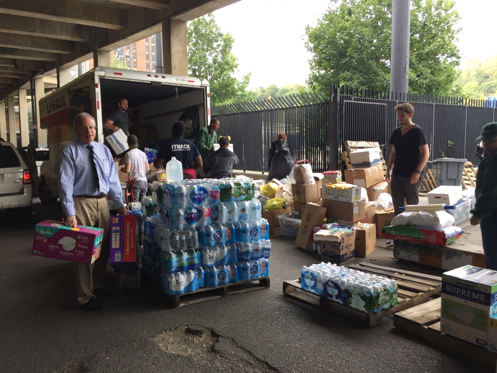
{"label": "tall multi-layer stack of bottled water packs on a pallet", "polygon": [[164,291],[269,276],[269,225],[251,179],[154,182],[152,190],[142,199],[142,263]]}

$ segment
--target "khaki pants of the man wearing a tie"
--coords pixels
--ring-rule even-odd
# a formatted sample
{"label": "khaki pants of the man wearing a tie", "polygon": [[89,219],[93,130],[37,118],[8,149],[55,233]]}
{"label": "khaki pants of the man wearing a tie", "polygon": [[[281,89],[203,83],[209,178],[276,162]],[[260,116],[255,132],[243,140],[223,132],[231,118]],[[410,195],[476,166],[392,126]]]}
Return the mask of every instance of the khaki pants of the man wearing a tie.
{"label": "khaki pants of the man wearing a tie", "polygon": [[110,214],[105,197],[100,199],[73,197],[73,199],[78,224],[104,229],[98,259],[92,264],[73,263],[78,304],[84,304],[93,296],[93,289],[103,287],[110,252]]}

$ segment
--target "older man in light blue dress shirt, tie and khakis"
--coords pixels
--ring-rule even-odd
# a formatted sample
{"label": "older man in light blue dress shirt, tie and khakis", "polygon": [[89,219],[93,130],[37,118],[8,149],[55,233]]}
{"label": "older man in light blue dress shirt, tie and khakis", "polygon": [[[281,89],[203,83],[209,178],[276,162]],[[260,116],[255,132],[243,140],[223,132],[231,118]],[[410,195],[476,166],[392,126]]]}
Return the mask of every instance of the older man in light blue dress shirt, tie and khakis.
{"label": "older man in light blue dress shirt, tie and khakis", "polygon": [[55,172],[66,225],[104,229],[98,259],[92,264],[73,263],[80,309],[98,311],[103,308],[100,296],[111,293],[103,284],[110,250],[107,193],[121,215],[127,211],[112,155],[105,145],[93,141],[95,120],[88,113],[80,113],[75,117],[74,127],[77,139],[62,148]]}

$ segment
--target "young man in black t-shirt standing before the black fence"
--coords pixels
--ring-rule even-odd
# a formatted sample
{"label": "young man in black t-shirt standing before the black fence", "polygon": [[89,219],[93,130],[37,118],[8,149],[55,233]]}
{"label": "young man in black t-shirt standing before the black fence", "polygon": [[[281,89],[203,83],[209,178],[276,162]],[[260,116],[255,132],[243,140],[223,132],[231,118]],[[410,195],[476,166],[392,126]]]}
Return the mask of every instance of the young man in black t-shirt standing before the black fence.
{"label": "young man in black t-shirt standing before the black fence", "polygon": [[395,111],[401,127],[396,128],[390,137],[392,153],[388,160],[387,182],[392,190],[395,215],[398,215],[399,207],[404,206],[404,198],[407,204],[419,202],[424,166],[430,157],[430,150],[424,131],[411,121],[413,105],[404,102],[397,105]]}

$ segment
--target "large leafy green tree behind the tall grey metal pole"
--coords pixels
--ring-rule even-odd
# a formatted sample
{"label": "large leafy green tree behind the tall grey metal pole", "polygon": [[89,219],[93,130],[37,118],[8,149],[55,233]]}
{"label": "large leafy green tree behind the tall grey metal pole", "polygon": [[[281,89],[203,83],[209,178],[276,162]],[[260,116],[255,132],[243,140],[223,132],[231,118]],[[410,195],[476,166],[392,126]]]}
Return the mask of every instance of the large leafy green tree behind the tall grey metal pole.
{"label": "large leafy green tree behind the tall grey metal pole", "polygon": [[[460,55],[459,14],[450,0],[412,0],[409,91],[447,94]],[[312,89],[332,84],[390,89],[392,0],[332,0],[316,27],[307,26]]]}

